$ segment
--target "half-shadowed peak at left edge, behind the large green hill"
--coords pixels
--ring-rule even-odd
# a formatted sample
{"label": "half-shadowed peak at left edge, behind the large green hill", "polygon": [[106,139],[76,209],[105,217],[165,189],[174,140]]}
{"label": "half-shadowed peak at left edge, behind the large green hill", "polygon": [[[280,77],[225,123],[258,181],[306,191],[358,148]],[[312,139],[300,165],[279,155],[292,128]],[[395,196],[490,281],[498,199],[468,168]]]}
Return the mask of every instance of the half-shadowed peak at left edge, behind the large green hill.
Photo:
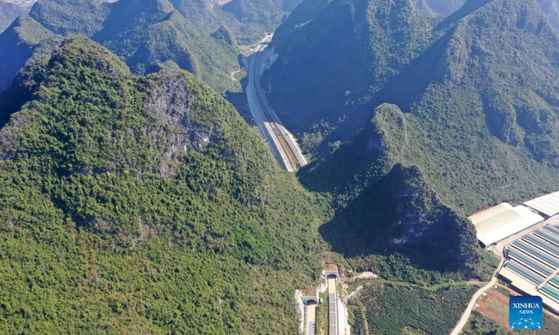
{"label": "half-shadowed peak at left edge, behind the large green hill", "polygon": [[0,34],[0,92],[11,84],[17,71],[31,56],[47,52],[56,40],[54,34],[31,17],[18,17]]}

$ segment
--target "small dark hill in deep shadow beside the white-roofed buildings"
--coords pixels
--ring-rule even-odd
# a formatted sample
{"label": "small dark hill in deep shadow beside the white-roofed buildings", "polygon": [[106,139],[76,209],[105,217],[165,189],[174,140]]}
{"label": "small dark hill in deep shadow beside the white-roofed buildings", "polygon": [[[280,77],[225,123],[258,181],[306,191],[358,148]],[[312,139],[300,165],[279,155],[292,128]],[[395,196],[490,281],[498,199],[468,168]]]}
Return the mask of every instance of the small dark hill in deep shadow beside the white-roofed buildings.
{"label": "small dark hill in deep shadow beside the white-roofed buildings", "polygon": [[417,269],[477,276],[473,225],[437,200],[416,167],[395,165],[319,232],[346,258],[399,254]]}

